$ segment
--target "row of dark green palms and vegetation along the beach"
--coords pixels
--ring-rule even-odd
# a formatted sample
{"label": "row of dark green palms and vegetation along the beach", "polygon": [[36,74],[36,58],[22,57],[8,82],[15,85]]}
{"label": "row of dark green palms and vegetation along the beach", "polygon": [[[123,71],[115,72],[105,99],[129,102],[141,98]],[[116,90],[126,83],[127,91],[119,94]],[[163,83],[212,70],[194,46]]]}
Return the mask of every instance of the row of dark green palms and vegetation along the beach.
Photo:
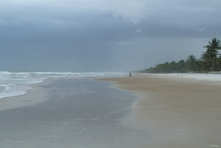
{"label": "row of dark green palms and vegetation along the beach", "polygon": [[202,53],[201,57],[197,59],[194,55],[190,55],[186,60],[178,62],[166,62],[158,64],[155,67],[150,67],[140,72],[148,73],[186,73],[186,72],[209,72],[221,71],[221,56],[218,51],[221,49],[221,42],[216,38],[208,42],[209,44],[203,46],[206,51]]}

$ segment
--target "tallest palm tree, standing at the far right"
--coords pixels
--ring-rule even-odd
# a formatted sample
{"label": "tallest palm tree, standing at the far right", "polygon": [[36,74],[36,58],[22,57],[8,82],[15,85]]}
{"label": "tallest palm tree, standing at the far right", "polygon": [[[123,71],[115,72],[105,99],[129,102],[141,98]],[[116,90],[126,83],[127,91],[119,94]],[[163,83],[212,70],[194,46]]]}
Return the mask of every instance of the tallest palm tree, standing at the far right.
{"label": "tallest palm tree, standing at the far right", "polygon": [[212,42],[209,41],[209,44],[206,46],[203,46],[204,48],[207,48],[207,52],[210,53],[210,58],[212,59],[212,71],[214,71],[214,60],[217,57],[217,53],[219,49],[221,49],[221,42],[220,40],[217,40],[216,38],[212,39]]}

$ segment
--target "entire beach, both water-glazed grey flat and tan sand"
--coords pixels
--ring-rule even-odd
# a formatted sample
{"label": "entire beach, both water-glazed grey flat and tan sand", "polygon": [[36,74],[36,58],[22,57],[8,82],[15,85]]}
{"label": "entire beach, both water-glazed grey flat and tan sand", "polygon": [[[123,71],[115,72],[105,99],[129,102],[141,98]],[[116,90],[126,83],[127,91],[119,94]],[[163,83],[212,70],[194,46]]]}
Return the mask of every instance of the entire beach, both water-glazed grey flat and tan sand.
{"label": "entire beach, both water-glazed grey flat and tan sand", "polygon": [[0,147],[220,147],[221,81],[201,76],[46,80],[0,100]]}

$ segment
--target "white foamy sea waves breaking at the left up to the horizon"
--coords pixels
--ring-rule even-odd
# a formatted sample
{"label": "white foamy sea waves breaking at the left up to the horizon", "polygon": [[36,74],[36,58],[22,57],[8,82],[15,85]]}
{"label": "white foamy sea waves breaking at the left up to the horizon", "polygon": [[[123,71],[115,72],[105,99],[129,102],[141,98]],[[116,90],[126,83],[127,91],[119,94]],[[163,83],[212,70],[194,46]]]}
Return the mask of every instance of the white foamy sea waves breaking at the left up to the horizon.
{"label": "white foamy sea waves breaking at the left up to the horizon", "polygon": [[25,94],[32,89],[30,84],[41,83],[48,78],[62,77],[115,77],[125,76],[119,72],[0,72],[0,99]]}

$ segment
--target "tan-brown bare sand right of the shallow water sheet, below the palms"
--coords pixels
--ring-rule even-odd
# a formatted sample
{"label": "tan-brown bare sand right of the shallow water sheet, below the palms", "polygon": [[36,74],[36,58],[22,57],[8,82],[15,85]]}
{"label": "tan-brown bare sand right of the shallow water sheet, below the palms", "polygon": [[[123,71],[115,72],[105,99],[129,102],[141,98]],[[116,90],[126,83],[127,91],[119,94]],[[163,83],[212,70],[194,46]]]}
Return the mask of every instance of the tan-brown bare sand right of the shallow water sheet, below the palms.
{"label": "tan-brown bare sand right of the shallow water sheet, below the palms", "polygon": [[221,147],[221,82],[159,75],[103,79],[134,91],[133,126],[152,131],[152,148]]}

